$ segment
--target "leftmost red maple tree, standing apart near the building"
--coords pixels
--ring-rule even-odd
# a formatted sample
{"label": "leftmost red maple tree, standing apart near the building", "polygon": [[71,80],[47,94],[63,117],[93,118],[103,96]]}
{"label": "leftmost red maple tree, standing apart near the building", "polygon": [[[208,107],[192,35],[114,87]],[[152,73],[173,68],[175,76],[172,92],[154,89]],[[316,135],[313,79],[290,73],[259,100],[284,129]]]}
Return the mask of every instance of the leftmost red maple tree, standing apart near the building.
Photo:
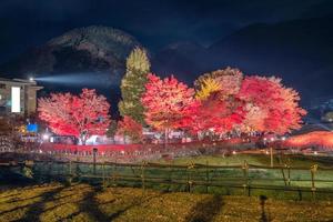
{"label": "leftmost red maple tree, standing apart near the building", "polygon": [[83,89],[81,94],[52,93],[38,101],[41,120],[60,135],[73,135],[85,140],[92,134],[104,134],[109,124],[110,104],[95,90]]}

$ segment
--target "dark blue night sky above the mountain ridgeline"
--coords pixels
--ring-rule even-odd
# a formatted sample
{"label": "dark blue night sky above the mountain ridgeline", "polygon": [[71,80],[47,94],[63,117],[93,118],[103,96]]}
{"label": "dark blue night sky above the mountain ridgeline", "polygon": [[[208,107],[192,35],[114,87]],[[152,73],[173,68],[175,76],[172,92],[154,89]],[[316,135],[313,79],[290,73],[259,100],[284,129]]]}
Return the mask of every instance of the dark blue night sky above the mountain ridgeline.
{"label": "dark blue night sky above the mountain ridgeline", "polygon": [[[2,0],[0,62],[77,27],[122,29],[150,49],[176,41],[209,46],[256,22],[311,17],[325,0]],[[325,11],[314,14],[325,13]]]}

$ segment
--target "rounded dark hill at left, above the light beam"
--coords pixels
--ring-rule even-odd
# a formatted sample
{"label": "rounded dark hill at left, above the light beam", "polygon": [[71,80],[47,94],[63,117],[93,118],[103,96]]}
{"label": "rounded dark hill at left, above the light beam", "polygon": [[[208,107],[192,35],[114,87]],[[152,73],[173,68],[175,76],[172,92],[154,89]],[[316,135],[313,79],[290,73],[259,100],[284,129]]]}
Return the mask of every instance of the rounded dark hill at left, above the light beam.
{"label": "rounded dark hill at left, above the light beam", "polygon": [[132,36],[109,27],[87,27],[56,37],[0,65],[2,73],[26,77],[109,71],[119,74],[130,51],[141,46]]}

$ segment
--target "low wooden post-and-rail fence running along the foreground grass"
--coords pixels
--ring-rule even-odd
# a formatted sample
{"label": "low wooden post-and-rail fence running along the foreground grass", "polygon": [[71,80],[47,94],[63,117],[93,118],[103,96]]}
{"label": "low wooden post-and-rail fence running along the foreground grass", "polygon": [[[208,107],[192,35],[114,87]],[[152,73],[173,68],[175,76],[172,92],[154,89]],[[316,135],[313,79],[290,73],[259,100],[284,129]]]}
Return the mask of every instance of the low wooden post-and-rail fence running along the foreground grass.
{"label": "low wooden post-and-rail fence running along the foreground grass", "polygon": [[[11,167],[18,167],[12,163]],[[274,195],[281,198],[333,200],[333,169],[262,167],[248,164],[141,164],[115,162],[36,161],[19,164],[31,168],[37,180],[64,179],[113,186],[135,186],[188,192]],[[8,167],[10,164],[8,163]]]}

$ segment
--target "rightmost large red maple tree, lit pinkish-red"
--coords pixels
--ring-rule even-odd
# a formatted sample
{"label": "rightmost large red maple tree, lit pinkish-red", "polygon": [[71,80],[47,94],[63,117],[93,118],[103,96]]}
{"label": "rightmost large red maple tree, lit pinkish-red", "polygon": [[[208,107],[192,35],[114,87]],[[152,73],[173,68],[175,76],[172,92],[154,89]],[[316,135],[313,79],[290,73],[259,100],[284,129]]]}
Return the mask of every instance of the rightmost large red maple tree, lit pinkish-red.
{"label": "rightmost large red maple tree, lit pinkish-red", "polygon": [[246,77],[238,95],[245,102],[244,131],[283,134],[301,128],[306,111],[299,107],[296,91],[284,88],[281,79]]}

